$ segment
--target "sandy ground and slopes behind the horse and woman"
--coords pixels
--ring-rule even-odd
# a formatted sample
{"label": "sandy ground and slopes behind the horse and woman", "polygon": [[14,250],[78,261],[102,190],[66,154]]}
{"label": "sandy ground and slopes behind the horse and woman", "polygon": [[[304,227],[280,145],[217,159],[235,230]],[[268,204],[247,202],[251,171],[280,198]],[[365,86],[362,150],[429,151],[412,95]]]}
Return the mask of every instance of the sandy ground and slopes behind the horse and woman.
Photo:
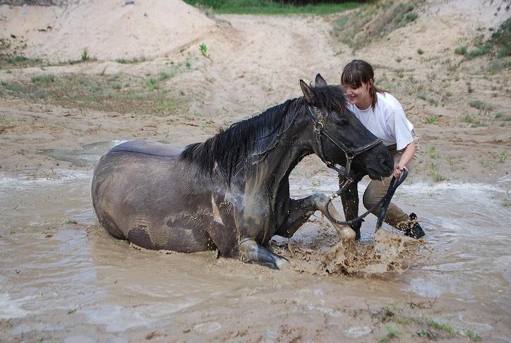
{"label": "sandy ground and slopes behind the horse and woman", "polygon": [[0,72],[1,170],[55,167],[34,150],[70,143],[186,145],[299,96],[300,78],[338,83],[361,58],[421,136],[421,179],[494,182],[511,160],[510,68],[455,49],[489,37],[510,12],[505,1],[468,2],[428,1],[356,51],[330,35],[340,15],[211,18],[177,0],[1,6],[4,50],[30,59]]}

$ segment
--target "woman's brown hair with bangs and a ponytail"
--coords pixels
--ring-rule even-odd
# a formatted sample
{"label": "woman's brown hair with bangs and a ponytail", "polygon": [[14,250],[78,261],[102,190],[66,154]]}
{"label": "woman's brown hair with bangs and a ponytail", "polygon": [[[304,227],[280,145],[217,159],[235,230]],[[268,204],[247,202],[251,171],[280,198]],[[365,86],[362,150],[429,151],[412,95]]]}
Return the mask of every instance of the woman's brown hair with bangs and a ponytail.
{"label": "woman's brown hair with bangs and a ponytail", "polygon": [[374,85],[374,71],[371,64],[368,64],[366,61],[362,61],[361,59],[354,59],[342,70],[341,84],[344,87],[348,85],[351,88],[359,88],[362,83],[368,83],[370,80],[373,81],[371,83],[371,88],[369,88],[369,95],[371,95],[371,98],[373,99],[371,107],[375,109],[376,102],[378,101],[376,92],[384,93],[386,91],[377,88]]}

